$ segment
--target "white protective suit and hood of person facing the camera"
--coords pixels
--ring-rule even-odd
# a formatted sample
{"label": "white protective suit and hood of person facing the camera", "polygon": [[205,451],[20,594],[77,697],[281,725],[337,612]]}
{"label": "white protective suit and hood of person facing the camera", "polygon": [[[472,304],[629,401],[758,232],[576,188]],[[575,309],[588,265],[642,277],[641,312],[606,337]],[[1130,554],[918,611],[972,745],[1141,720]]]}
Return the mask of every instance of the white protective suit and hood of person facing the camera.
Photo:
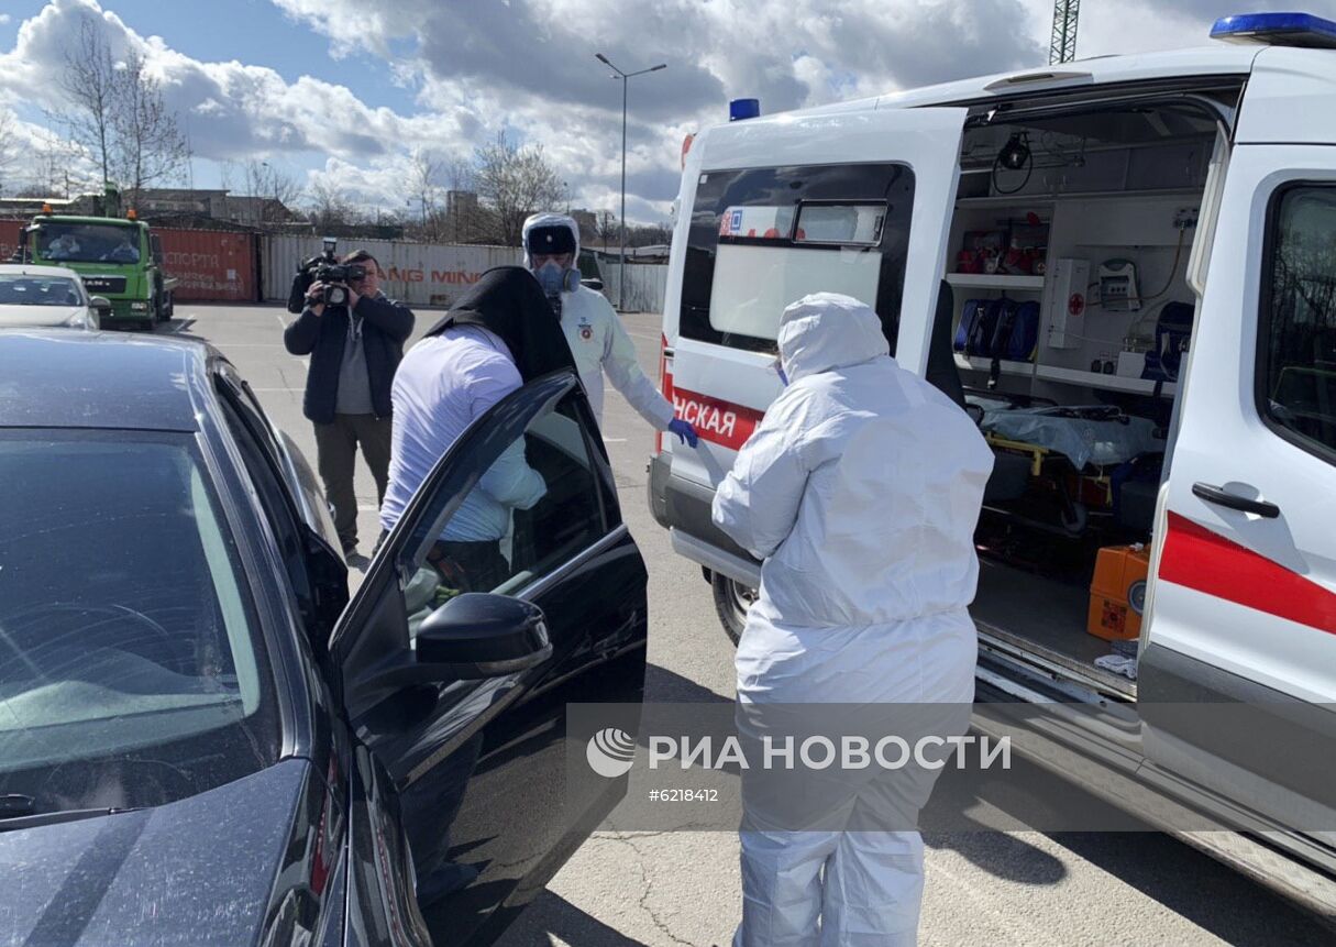
{"label": "white protective suit and hood of person facing the camera", "polygon": [[[565,214],[534,214],[524,222],[524,264],[533,268],[529,259],[529,231],[533,227],[566,227],[576,239],[576,259],[580,258],[580,227]],[[603,373],[636,411],[655,426],[668,430],[673,418],[672,403],[649,381],[636,361],[636,346],[617,318],[617,311],[601,293],[580,286],[573,293],[561,294],[561,331],[566,335],[570,354],[576,358],[580,381],[593,407],[595,418],[603,425]]]}

